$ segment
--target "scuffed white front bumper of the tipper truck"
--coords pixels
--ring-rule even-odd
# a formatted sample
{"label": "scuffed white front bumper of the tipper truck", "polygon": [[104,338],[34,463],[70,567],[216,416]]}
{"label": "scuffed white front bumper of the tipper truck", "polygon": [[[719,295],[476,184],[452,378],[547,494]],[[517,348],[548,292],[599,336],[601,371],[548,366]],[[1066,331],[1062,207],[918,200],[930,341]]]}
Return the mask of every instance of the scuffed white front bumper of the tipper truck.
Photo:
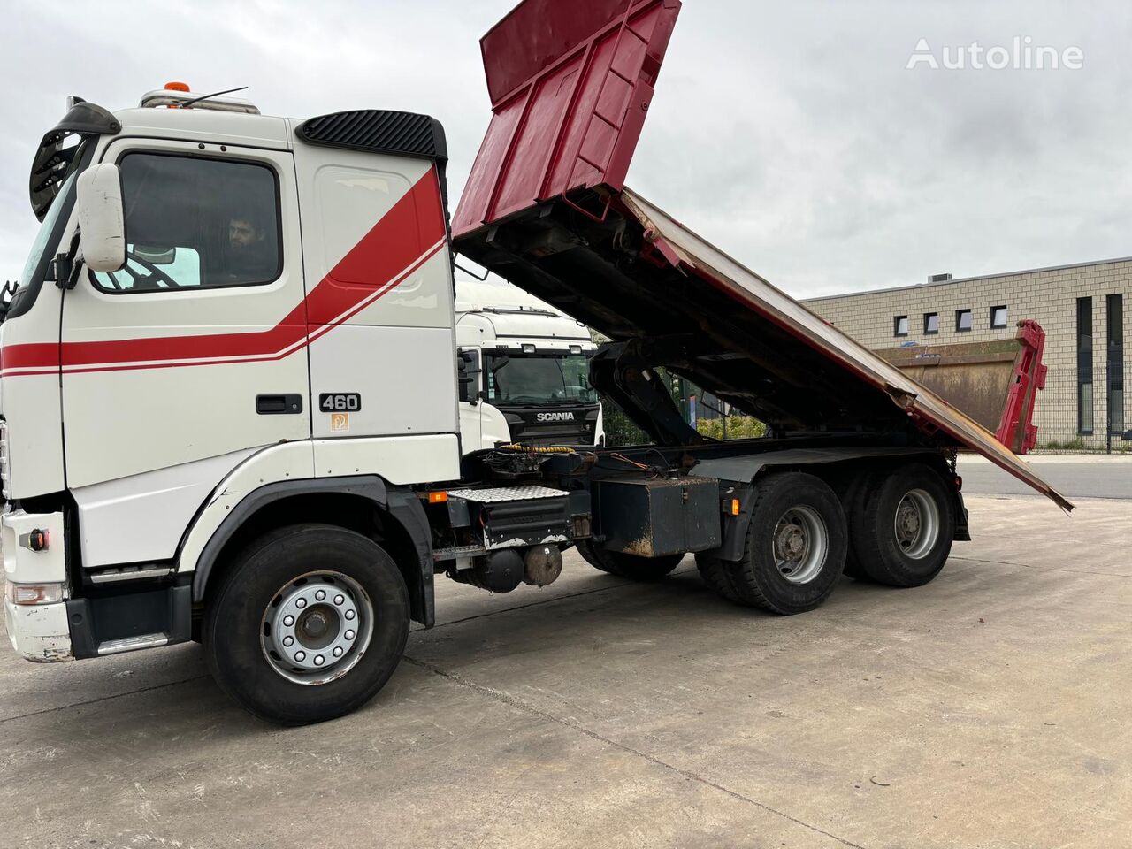
{"label": "scuffed white front bumper of the tipper truck", "polygon": [[[38,551],[27,546],[28,534],[45,531],[48,544]],[[67,581],[63,551],[62,513],[25,513],[10,511],[0,518],[3,539],[3,572],[9,584],[50,584],[65,586]],[[5,621],[11,648],[27,660],[52,663],[75,658],[67,602],[16,604],[5,600]]]}

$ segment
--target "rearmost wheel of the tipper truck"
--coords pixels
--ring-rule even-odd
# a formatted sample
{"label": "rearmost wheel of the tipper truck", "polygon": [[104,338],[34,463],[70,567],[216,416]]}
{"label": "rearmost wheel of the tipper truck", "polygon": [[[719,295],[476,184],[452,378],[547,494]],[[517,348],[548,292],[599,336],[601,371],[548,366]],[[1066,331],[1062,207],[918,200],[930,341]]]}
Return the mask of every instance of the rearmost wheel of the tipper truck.
{"label": "rearmost wheel of the tipper truck", "polygon": [[921,586],[947,561],[954,529],[954,503],[943,478],[923,463],[907,463],[867,488],[854,516],[854,554],[877,583]]}

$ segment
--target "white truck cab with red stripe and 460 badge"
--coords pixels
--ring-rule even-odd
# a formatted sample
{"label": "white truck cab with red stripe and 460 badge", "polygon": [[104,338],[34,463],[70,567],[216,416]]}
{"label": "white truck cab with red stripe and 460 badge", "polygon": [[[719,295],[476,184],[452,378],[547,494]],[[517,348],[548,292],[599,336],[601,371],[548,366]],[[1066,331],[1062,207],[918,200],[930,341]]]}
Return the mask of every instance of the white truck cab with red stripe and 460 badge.
{"label": "white truck cab with red stripe and 460 badge", "polygon": [[[427,619],[410,487],[460,477],[440,125],[269,118],[182,85],[68,106],[32,168],[42,224],[0,325],[12,646],[50,661],[188,640],[257,512],[317,523],[354,488]],[[333,649],[272,663],[301,676],[351,651]]]}

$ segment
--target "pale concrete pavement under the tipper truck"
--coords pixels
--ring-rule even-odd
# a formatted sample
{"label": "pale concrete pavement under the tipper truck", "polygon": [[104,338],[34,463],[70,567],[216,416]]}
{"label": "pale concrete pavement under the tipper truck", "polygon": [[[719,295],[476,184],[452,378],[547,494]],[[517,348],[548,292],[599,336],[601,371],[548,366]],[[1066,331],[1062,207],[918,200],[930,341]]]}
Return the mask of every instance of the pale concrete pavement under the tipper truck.
{"label": "pale concrete pavement under the tipper truck", "polygon": [[0,651],[0,847],[1132,846],[1132,503],[969,496],[931,585],[778,618],[691,559],[441,582],[366,709],[277,729],[199,649]]}

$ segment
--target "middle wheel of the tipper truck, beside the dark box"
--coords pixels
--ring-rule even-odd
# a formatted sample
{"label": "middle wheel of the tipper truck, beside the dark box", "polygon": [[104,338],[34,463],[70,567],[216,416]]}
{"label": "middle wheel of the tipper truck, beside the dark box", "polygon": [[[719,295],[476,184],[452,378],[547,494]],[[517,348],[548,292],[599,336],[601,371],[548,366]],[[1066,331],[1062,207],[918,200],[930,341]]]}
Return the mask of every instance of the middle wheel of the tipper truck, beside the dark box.
{"label": "middle wheel of the tipper truck, beside the dark box", "polygon": [[812,474],[774,474],[758,484],[743,559],[715,560],[705,577],[740,604],[800,614],[833,592],[846,546],[844,512],[833,490]]}

